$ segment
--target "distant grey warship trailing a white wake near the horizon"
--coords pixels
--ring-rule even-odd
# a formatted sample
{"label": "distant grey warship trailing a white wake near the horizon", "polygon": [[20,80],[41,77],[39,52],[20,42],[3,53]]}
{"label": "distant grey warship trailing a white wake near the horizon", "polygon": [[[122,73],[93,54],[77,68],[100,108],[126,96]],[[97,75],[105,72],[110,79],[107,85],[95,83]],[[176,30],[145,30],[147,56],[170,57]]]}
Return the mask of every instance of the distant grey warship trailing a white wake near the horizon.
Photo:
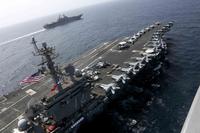
{"label": "distant grey warship trailing a white wake near the horizon", "polygon": [[60,25],[65,25],[65,24],[71,23],[73,21],[80,20],[82,16],[83,16],[82,14],[80,14],[78,16],[72,16],[72,17],[60,15],[56,22],[52,22],[50,24],[45,24],[43,27],[45,29],[52,29],[52,28],[55,28]]}

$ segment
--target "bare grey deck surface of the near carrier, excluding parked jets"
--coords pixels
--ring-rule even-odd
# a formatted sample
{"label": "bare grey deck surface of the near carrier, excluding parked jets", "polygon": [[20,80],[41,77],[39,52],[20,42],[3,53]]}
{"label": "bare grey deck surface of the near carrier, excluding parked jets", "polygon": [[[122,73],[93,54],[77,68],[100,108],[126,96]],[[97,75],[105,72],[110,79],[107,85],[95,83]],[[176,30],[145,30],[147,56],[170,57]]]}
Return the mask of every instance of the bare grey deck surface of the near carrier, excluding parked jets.
{"label": "bare grey deck surface of the near carrier, excluding parked jets", "polygon": [[[153,33],[162,28],[162,24],[156,26],[144,33],[135,43],[130,44],[130,48],[126,50],[117,50],[117,44],[128,37],[114,40],[113,42],[104,43],[90,52],[86,52],[83,56],[71,62],[78,69],[84,69],[95,65],[99,60],[109,62],[110,64],[118,64],[124,66],[124,62],[130,61],[132,57],[140,57],[141,51],[144,51],[144,45],[147,43]],[[114,82],[107,74],[110,68],[101,70],[99,77],[101,80],[98,83],[108,84]],[[112,73],[117,74],[117,71]],[[7,96],[0,98],[0,132],[10,133],[17,126],[18,119],[24,114],[27,103],[30,99],[41,99],[44,95],[50,93],[53,86],[53,81],[49,76],[44,77],[39,83],[28,85],[22,89],[12,92]]]}

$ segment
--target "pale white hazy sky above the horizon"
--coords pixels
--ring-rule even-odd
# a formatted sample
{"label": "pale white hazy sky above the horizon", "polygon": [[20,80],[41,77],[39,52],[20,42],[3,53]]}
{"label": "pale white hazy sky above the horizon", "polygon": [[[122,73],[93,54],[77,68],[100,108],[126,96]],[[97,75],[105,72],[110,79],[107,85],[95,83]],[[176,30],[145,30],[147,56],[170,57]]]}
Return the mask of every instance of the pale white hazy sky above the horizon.
{"label": "pale white hazy sky above the horizon", "polygon": [[110,0],[0,0],[0,27]]}

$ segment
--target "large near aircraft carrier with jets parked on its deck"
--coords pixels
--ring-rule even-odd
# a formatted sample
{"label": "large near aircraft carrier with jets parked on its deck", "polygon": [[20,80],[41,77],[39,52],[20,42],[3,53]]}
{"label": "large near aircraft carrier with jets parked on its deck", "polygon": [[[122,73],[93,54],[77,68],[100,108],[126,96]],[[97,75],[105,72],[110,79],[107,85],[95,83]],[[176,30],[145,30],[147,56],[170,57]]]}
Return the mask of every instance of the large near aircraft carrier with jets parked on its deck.
{"label": "large near aircraft carrier with jets parked on its deck", "polygon": [[53,61],[55,49],[45,42],[39,47],[33,38],[35,55],[48,68],[46,76],[0,98],[0,132],[76,132],[122,93],[137,93],[129,83],[142,86],[159,75],[167,52],[163,35],[172,26],[157,22],[104,43],[63,68]]}

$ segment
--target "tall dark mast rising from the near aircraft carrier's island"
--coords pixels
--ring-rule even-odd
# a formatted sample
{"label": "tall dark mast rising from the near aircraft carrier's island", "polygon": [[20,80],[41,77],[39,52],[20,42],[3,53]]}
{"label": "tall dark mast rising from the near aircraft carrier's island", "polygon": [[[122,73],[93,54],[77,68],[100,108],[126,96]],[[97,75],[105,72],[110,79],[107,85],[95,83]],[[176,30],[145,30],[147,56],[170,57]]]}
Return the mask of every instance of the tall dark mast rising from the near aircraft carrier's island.
{"label": "tall dark mast rising from the near aircraft carrier's island", "polygon": [[55,48],[53,47],[48,47],[46,42],[42,43],[42,48],[38,48],[37,46],[37,42],[35,41],[35,38],[32,38],[32,42],[31,44],[33,44],[34,49],[35,49],[35,53],[33,53],[35,56],[42,56],[42,59],[44,58],[45,60],[42,60],[42,63],[39,65],[44,65],[46,64],[50,74],[52,76],[52,79],[54,81],[54,83],[57,85],[58,91],[61,91],[62,85],[60,82],[60,78],[58,76],[58,73],[55,66],[54,66],[54,62],[53,59],[56,58],[56,54],[55,54]]}

